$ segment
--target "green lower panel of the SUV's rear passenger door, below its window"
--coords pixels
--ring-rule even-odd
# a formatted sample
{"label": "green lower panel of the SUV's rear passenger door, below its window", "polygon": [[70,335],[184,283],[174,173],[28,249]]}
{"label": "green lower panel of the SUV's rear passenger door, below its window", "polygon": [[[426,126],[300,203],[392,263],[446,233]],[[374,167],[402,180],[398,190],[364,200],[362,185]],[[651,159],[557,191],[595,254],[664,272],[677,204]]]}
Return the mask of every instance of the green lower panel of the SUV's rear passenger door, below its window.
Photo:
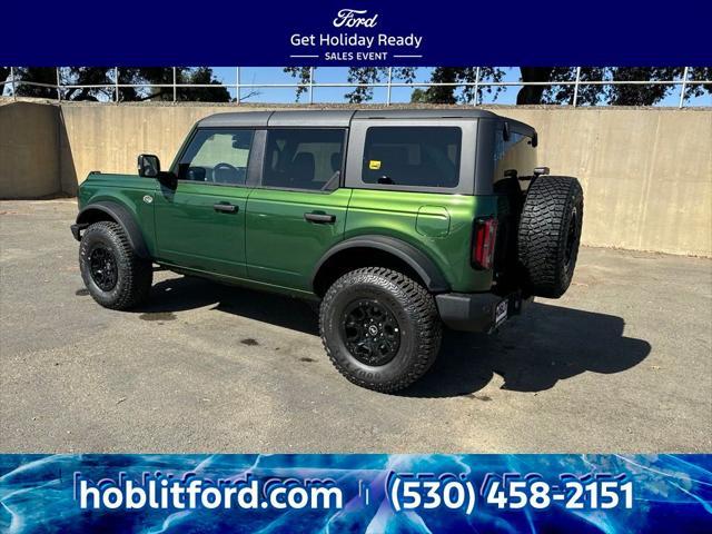
{"label": "green lower panel of the SUV's rear passenger door, below its window", "polygon": [[[248,277],[310,291],[314,266],[344,238],[350,196],[350,189],[254,189],[247,201]],[[334,222],[309,221],[305,214],[333,215]]]}

